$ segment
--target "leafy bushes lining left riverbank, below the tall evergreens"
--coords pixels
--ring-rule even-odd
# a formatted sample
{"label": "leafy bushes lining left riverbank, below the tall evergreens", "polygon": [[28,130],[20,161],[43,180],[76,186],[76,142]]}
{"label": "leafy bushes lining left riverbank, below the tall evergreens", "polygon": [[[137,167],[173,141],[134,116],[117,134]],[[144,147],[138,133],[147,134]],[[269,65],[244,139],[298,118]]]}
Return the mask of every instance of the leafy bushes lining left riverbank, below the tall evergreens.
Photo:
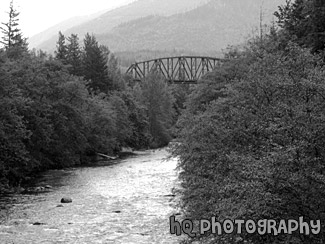
{"label": "leafy bushes lining left riverbank, below the tall evergreens", "polygon": [[[169,137],[162,137],[173,122],[163,115],[166,109],[172,113],[167,87],[139,87],[141,94],[167,92],[155,94],[161,98],[159,107],[166,105],[162,101],[169,102],[165,110],[155,111],[158,107],[152,107],[149,98],[136,98],[135,88],[90,93],[82,77],[71,75],[60,61],[48,57],[26,53],[13,60],[2,52],[0,73],[2,186],[20,184],[35,171],[82,164],[95,152],[112,155],[123,146],[168,143]],[[154,116],[159,121],[151,121]],[[163,127],[150,129],[158,122]]]}

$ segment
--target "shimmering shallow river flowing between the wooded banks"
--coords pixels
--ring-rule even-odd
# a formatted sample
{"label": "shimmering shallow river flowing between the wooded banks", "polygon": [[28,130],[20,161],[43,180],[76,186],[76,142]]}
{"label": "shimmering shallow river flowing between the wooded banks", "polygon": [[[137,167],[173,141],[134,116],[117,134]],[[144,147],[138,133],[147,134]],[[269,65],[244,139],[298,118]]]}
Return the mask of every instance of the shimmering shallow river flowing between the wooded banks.
{"label": "shimmering shallow river flowing between the wooded banks", "polygon": [[[36,186],[50,190],[1,199],[11,204],[1,210],[0,243],[179,243],[169,233],[177,160],[167,156],[149,150],[113,165],[46,172]],[[73,201],[58,207],[62,197]]]}

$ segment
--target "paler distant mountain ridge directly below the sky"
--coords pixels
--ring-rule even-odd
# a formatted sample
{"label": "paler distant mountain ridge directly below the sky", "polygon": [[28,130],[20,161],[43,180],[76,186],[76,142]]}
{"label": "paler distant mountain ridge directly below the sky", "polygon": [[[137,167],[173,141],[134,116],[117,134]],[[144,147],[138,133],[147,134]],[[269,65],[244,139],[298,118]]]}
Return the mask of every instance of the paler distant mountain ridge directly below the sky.
{"label": "paler distant mountain ridge directly below the sky", "polygon": [[[69,26],[68,28],[65,27],[61,30],[66,36],[75,33],[82,39],[87,32],[95,35],[105,34],[121,23],[146,17],[148,15],[170,16],[177,13],[183,13],[208,1],[209,0],[138,0],[120,8],[107,11],[84,23],[79,23],[72,27]],[[43,41],[41,43],[36,43],[36,45],[35,42],[31,42],[31,40],[34,39],[34,37],[32,37],[29,40],[30,47],[52,52],[55,49],[58,38],[58,28],[55,28],[54,31],[48,31],[51,35],[49,36],[47,34],[46,38],[43,38]],[[38,37],[40,36],[42,36],[42,34],[38,35]]]}

